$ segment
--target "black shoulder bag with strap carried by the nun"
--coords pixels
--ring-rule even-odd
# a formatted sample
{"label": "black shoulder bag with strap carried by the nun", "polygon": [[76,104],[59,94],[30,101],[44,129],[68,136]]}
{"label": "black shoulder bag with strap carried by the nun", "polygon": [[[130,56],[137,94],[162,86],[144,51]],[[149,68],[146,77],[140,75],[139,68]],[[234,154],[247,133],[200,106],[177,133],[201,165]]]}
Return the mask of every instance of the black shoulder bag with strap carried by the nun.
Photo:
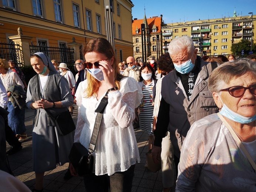
{"label": "black shoulder bag with strap carried by the nun", "polygon": [[[37,86],[38,86],[38,97],[41,98],[41,92],[40,92],[40,83],[39,83],[39,77],[37,76]],[[50,112],[48,112],[47,109],[44,109],[49,116],[55,121],[55,125],[58,129],[59,135],[65,136],[72,131],[76,129],[75,123],[72,119],[72,116],[68,110],[65,112],[60,113],[57,117],[53,117]]]}

